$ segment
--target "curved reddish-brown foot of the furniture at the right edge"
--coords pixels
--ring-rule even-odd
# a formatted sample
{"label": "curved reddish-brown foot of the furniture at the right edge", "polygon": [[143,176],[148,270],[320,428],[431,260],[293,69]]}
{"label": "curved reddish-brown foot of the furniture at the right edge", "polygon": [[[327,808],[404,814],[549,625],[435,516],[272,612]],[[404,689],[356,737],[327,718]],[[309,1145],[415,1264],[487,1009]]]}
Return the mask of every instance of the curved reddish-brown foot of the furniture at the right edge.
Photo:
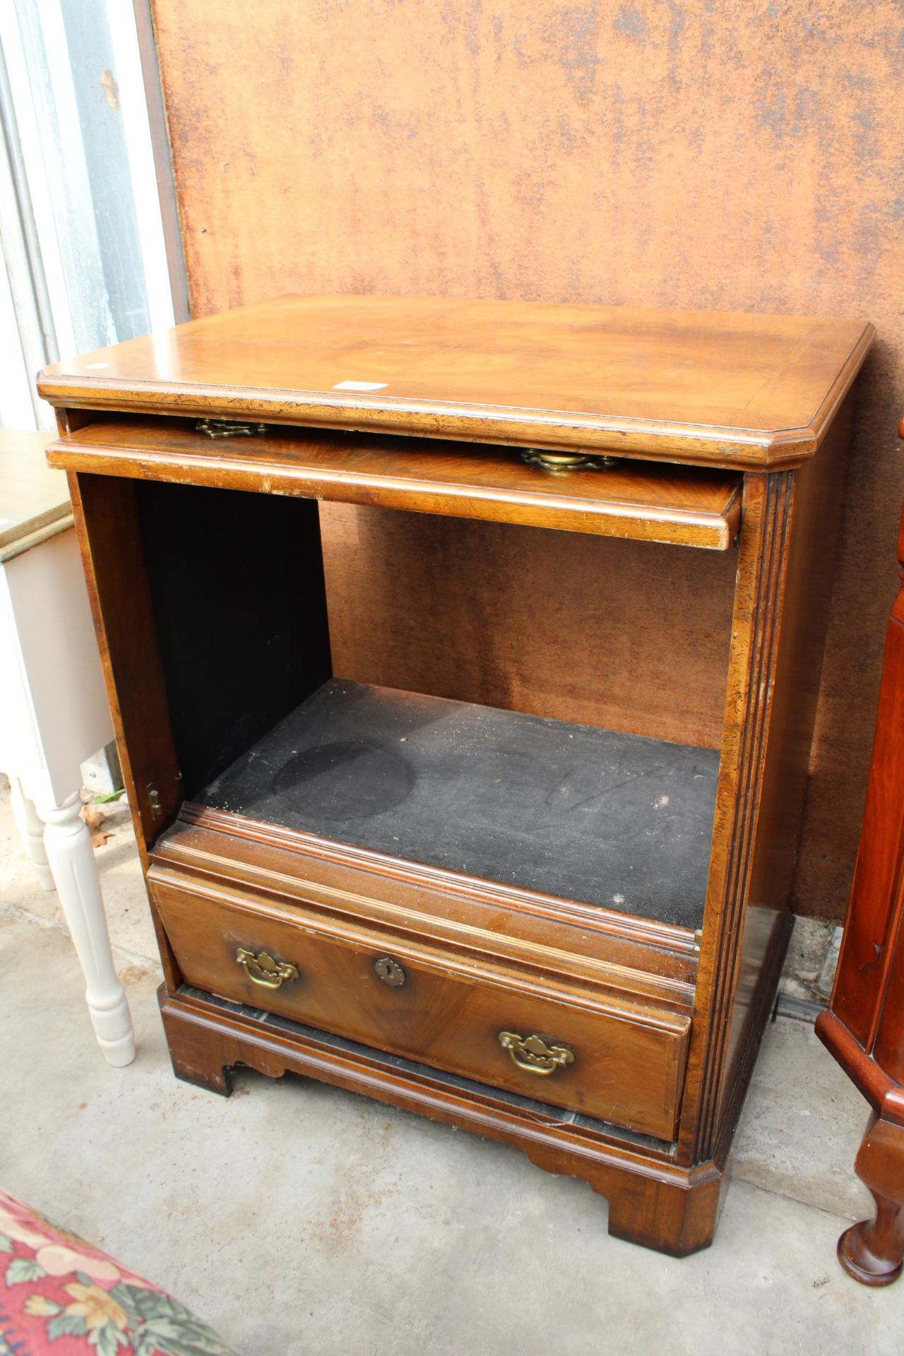
{"label": "curved reddish-brown foot of the furniture at the right edge", "polygon": [[904,1127],[873,1116],[854,1170],[876,1201],[876,1218],[844,1230],[838,1260],[863,1285],[890,1285],[904,1264]]}

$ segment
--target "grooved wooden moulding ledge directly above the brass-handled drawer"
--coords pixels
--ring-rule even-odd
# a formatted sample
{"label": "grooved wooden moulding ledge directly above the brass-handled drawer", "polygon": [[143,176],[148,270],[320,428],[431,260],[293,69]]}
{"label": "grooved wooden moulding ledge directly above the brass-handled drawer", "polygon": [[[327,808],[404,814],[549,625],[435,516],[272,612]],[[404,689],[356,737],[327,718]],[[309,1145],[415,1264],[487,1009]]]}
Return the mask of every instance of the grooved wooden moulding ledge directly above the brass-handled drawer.
{"label": "grooved wooden moulding ledge directly above the brass-handled drawer", "polygon": [[206,805],[186,804],[153,848],[164,871],[362,917],[446,952],[571,975],[615,998],[690,1013],[695,938],[682,928],[398,861]]}

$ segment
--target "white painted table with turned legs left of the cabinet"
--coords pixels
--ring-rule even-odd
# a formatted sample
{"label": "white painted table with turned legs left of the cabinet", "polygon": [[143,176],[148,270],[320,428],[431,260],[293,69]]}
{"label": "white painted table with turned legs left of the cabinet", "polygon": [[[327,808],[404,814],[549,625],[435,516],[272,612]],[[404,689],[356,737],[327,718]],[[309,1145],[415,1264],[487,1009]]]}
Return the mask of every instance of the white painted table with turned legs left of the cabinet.
{"label": "white painted table with turned legs left of the cabinet", "polygon": [[136,1056],[112,965],[80,765],[112,738],[66,479],[43,433],[0,428],[0,767],[41,884],[60,895],[111,1064]]}

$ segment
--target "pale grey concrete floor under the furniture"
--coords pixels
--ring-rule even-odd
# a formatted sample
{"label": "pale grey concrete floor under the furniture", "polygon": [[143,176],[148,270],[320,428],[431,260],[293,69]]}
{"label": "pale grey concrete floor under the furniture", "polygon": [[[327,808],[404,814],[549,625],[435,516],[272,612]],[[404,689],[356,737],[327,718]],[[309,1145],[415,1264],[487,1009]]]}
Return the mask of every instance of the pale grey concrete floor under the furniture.
{"label": "pale grey concrete floor under the furniture", "polygon": [[900,1356],[904,1285],[863,1290],[835,1260],[869,1208],[851,1170],[866,1108],[808,1025],[770,1029],[716,1242],[674,1261],[609,1238],[590,1188],[499,1144],[300,1078],[247,1073],[229,1101],[176,1082],[112,824],[98,860],[138,1040],[122,1070],[0,792],[0,1182],[241,1356]]}

